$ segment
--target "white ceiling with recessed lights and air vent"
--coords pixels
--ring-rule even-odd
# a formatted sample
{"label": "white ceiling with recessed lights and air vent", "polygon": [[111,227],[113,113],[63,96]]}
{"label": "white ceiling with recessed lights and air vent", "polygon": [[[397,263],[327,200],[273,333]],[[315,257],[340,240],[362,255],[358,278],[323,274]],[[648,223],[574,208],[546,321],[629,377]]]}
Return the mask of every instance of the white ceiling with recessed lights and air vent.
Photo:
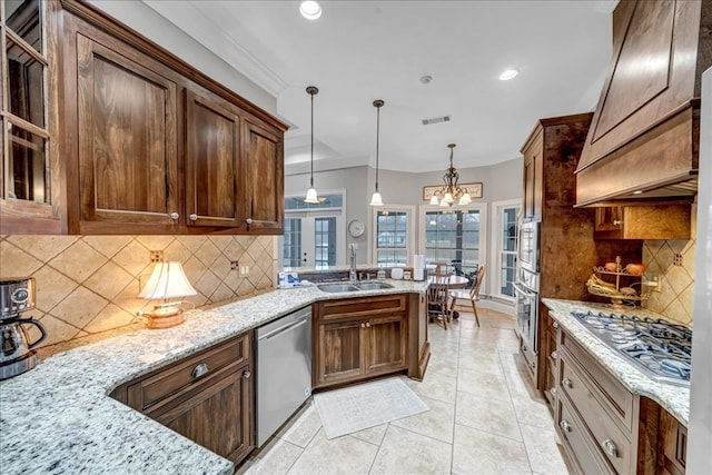
{"label": "white ceiling with recessed lights and air vent", "polygon": [[375,166],[383,99],[380,168],[432,171],[449,142],[456,167],[493,165],[520,156],[536,119],[592,110],[617,0],[323,1],[316,21],[297,0],[144,1],[277,98],[288,171],[308,167],[310,85],[316,170]]}

